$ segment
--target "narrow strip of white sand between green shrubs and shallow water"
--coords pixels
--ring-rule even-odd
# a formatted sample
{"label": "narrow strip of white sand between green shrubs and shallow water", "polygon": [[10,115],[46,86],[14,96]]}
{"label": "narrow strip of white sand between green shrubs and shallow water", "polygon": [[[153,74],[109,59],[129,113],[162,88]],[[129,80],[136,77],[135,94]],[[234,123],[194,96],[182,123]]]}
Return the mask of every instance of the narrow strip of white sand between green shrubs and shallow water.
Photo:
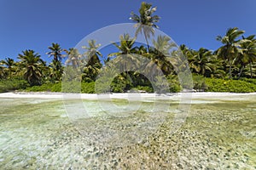
{"label": "narrow strip of white sand between green shrubs and shallow water", "polygon": [[63,93],[2,93],[1,98],[11,99],[242,99],[247,96],[255,96],[256,93],[215,93],[215,92],[196,92],[196,93],[177,93],[177,94],[147,94],[147,93],[119,93],[119,94],[63,94]]}

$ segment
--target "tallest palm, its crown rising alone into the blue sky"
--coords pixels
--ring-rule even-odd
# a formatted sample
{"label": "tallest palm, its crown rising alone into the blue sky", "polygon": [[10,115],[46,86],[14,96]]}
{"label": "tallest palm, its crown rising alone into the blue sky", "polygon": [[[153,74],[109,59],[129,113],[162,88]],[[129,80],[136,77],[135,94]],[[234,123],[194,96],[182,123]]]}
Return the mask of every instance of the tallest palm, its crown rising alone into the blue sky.
{"label": "tallest palm, its crown rising alone into the blue sky", "polygon": [[141,8],[139,8],[140,15],[131,12],[130,17],[130,20],[137,23],[135,25],[137,27],[136,37],[138,33],[143,32],[145,40],[147,42],[148,51],[148,38],[150,38],[151,35],[154,35],[154,28],[158,28],[158,26],[155,23],[160,20],[160,17],[158,15],[153,16],[155,11],[156,7],[152,8],[152,4],[143,2],[141,4]]}

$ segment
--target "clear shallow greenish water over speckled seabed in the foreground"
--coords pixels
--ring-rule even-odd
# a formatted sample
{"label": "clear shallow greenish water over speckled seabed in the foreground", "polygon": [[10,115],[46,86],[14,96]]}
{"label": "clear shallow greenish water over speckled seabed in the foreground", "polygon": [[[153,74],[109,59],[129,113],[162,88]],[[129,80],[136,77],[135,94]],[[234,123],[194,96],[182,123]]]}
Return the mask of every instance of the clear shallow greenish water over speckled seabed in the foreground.
{"label": "clear shallow greenish water over speckled seabed in the foreground", "polygon": [[[140,127],[148,126],[150,131],[150,101],[143,102],[133,116],[124,118],[102,111],[96,101],[84,100],[89,116],[77,122],[91,125],[84,134],[68,118],[61,100],[0,99],[0,169],[253,169],[255,101],[255,96],[237,101],[195,99],[186,122],[172,134],[170,125],[179,112],[177,104],[157,113],[165,120],[153,133],[139,133]],[[120,108],[127,104],[118,99],[113,102]],[[157,119],[154,117],[154,121]],[[136,143],[99,145],[97,140],[113,139],[106,142],[114,143],[115,139],[99,136],[102,127],[109,132],[133,130],[133,137],[122,133],[122,138],[124,142],[135,138]]]}

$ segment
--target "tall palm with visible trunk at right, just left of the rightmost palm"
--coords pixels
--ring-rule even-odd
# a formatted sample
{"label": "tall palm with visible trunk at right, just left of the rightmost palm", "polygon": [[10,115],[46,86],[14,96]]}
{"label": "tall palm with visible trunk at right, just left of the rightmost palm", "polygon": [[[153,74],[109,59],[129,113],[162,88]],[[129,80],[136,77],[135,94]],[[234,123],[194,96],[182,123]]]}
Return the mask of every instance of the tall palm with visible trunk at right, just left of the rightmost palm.
{"label": "tall palm with visible trunk at right, just left of the rightmost palm", "polygon": [[244,32],[245,31],[240,31],[237,27],[234,27],[228,29],[224,37],[216,37],[219,42],[224,44],[224,46],[218,48],[217,54],[219,57],[228,60],[230,66],[230,78],[232,78],[231,68],[233,65],[233,60],[236,59],[240,52],[239,40],[236,40],[236,38],[240,37]]}

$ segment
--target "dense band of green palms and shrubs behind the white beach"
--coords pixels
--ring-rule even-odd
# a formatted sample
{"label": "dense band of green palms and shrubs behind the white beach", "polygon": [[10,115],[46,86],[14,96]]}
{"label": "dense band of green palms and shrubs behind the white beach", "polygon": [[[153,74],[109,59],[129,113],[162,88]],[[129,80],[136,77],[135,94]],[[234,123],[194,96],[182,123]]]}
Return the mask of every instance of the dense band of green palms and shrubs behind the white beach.
{"label": "dense band of green palms and shrubs behind the white beach", "polygon": [[[161,82],[153,85],[143,74],[137,71],[129,71],[131,67],[140,65],[140,61],[133,54],[149,59],[145,69],[157,65],[166,78],[170,92],[179,92],[181,87],[175,67],[179,66],[178,59],[170,60],[170,56],[177,55],[177,51],[170,52],[173,48],[169,37],[158,36],[153,39],[153,47],[148,44],[149,37],[154,35],[154,28],[160,17],[154,15],[156,7],[150,3],[142,3],[139,14],[131,12],[131,20],[136,23],[136,37],[124,33],[119,42],[113,42],[117,49],[108,56],[102,56],[98,48],[101,44],[95,40],[88,42],[88,47],[83,47],[86,52],[79,54],[76,48],[62,49],[58,43],[52,43],[47,53],[52,58],[49,65],[31,49],[26,49],[18,54],[18,61],[6,58],[0,61],[0,92],[24,89],[26,91],[61,92],[61,78],[65,68],[74,70],[79,68],[82,72],[81,92],[95,93],[96,77],[101,73],[102,66],[115,60],[125,67],[124,72],[113,78],[110,92],[139,91],[161,93]],[[199,91],[209,92],[256,92],[256,39],[254,35],[244,37],[245,31],[238,28],[230,28],[224,36],[216,39],[222,43],[215,51],[207,48],[198,50],[185,45],[179,48],[188,58],[190,71],[193,73],[194,88]],[[143,34],[147,44],[138,46],[137,35]],[[125,55],[125,59],[121,56]],[[133,65],[129,65],[132,61]],[[64,63],[66,65],[64,65]],[[134,64],[135,63],[135,64]],[[111,69],[111,65],[110,65]],[[156,77],[161,80],[162,77]],[[102,84],[102,87],[104,84]],[[70,89],[73,85],[70,84]],[[101,88],[101,87],[100,87]],[[102,91],[104,92],[104,91]]]}

